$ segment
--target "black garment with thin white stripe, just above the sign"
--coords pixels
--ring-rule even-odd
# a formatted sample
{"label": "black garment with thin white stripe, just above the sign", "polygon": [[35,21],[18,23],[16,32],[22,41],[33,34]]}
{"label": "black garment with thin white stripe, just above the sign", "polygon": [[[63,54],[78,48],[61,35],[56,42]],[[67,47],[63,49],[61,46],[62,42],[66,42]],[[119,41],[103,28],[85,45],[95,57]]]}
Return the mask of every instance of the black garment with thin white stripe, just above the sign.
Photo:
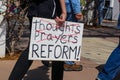
{"label": "black garment with thin white stripe, just above the sign", "polygon": [[29,0],[28,18],[55,18],[61,14],[59,0]]}

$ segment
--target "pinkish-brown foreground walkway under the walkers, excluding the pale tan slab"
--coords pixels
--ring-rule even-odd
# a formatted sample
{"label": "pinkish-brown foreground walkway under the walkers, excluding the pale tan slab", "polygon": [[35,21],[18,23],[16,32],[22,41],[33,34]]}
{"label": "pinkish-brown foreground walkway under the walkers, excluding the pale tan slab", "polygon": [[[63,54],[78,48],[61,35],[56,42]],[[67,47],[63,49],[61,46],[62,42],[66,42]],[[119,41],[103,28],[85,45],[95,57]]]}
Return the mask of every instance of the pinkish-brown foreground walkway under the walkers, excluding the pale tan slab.
{"label": "pinkish-brown foreground walkway under the walkers, excluding the pale tan slab", "polygon": [[[94,80],[98,70],[96,63],[93,63],[84,58],[81,59],[81,64],[84,66],[82,71],[65,71],[64,80]],[[0,80],[8,80],[8,76],[15,64],[16,60],[0,62]],[[40,61],[34,61],[28,73],[25,75],[25,80],[50,80],[51,67],[47,68]]]}

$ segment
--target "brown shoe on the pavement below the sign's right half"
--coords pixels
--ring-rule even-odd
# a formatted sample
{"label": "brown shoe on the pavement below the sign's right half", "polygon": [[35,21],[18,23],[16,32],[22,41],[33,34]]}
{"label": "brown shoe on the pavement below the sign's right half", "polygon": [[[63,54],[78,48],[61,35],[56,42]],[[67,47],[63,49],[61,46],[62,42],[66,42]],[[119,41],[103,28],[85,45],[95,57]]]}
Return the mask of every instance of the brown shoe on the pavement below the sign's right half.
{"label": "brown shoe on the pavement below the sign's right half", "polygon": [[83,66],[82,65],[68,65],[68,64],[64,64],[64,70],[65,71],[82,71]]}

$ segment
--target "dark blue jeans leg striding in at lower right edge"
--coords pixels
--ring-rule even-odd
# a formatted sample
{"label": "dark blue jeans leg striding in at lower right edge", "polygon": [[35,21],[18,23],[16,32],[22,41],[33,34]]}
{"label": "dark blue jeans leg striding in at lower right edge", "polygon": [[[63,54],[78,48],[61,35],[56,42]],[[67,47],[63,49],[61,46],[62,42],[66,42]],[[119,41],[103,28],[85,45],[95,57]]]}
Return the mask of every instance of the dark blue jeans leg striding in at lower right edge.
{"label": "dark blue jeans leg striding in at lower right edge", "polygon": [[120,71],[120,44],[109,56],[103,70],[98,74],[100,80],[112,80]]}

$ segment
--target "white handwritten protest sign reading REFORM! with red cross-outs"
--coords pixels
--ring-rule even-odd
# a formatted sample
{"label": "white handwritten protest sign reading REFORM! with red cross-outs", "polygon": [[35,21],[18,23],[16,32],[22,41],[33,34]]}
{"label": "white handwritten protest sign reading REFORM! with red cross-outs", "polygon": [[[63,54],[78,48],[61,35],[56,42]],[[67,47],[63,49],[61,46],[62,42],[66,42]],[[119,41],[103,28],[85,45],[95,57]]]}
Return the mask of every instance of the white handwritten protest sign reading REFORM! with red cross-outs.
{"label": "white handwritten protest sign reading REFORM! with red cross-outs", "polygon": [[58,27],[55,20],[34,17],[29,59],[80,61],[83,26],[66,21]]}

